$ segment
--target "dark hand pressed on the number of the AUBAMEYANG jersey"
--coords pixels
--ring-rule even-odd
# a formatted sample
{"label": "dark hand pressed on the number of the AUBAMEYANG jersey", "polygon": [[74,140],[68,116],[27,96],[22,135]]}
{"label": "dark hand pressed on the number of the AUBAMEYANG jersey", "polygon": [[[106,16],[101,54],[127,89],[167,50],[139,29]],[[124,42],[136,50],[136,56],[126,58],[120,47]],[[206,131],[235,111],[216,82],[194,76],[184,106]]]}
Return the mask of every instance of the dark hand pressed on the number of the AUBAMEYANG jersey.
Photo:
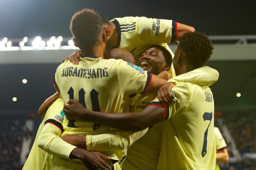
{"label": "dark hand pressed on the number of the AUBAMEYANG jersey", "polygon": [[74,99],[70,99],[67,102],[68,105],[64,105],[63,112],[69,120],[84,120],[86,109],[84,106]]}

